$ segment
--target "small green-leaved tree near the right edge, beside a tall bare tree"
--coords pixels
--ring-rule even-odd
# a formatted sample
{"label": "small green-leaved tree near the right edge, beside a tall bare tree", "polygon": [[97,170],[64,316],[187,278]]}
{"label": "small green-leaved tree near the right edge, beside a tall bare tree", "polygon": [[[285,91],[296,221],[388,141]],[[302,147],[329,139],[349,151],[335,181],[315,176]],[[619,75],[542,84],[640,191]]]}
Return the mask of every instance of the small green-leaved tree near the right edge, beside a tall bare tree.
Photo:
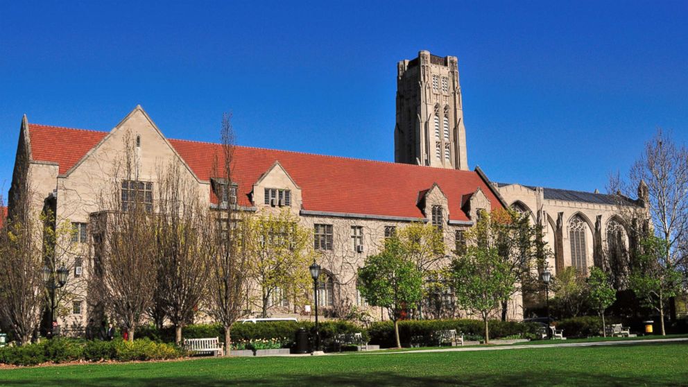
{"label": "small green-leaved tree near the right edge, beside a tall bare tree", "polygon": [[660,313],[662,336],[664,330],[664,307],[669,298],[680,291],[682,276],[670,258],[671,243],[657,236],[649,236],[640,243],[640,251],[631,268],[629,287],[640,302]]}

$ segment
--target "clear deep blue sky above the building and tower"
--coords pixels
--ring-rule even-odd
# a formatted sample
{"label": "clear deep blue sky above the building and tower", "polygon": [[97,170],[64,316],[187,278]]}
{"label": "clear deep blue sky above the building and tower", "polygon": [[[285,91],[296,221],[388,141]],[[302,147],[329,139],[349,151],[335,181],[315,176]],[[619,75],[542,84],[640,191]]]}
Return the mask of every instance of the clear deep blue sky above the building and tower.
{"label": "clear deep blue sky above the building and tower", "polygon": [[468,162],[604,191],[657,127],[688,141],[688,1],[0,1],[0,187],[22,114],[394,160],[397,61],[456,55]]}

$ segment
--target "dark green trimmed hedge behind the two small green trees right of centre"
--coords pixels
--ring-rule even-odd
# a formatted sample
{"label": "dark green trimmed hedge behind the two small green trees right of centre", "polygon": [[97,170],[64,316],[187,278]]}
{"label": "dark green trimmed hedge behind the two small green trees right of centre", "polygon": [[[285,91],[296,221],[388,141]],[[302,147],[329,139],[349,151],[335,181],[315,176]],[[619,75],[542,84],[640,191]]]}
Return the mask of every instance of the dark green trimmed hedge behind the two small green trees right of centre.
{"label": "dark green trimmed hedge behind the two small green trees right of centre", "polygon": [[[540,325],[534,322],[490,321],[490,338],[535,338]],[[481,320],[405,320],[399,321],[399,341],[402,346],[410,346],[412,341],[420,345],[431,345],[429,338],[433,332],[456,329],[467,338],[483,338],[483,322]],[[370,343],[381,347],[395,347],[394,325],[391,321],[374,322],[368,328]]]}

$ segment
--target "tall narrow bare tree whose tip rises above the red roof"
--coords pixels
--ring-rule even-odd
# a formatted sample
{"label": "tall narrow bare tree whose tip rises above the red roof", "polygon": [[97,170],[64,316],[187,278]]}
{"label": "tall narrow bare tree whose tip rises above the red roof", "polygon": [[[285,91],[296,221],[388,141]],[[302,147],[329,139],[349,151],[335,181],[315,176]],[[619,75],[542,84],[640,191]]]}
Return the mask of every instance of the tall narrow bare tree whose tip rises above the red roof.
{"label": "tall narrow bare tree whose tip rises above the red roof", "polygon": [[248,271],[248,253],[243,246],[246,222],[242,221],[239,206],[234,204],[237,201],[232,200],[236,198],[236,187],[232,182],[234,131],[230,119],[229,114],[223,114],[221,146],[219,154],[215,155],[213,173],[218,184],[214,193],[218,205],[202,229],[203,254],[209,259],[208,309],[225,329],[226,356],[232,348],[232,324],[246,314],[244,301]]}

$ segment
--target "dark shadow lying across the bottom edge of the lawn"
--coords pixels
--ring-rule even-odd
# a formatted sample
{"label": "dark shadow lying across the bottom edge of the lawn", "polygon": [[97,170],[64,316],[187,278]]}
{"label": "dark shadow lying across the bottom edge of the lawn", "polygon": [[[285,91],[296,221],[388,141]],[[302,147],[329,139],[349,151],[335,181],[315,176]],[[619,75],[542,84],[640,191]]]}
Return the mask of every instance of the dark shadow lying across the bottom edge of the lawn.
{"label": "dark shadow lying across the bottom edge of the lawn", "polygon": [[[683,372],[685,374],[685,372]],[[310,375],[304,373],[280,375],[266,380],[259,376],[237,380],[231,375],[212,379],[200,377],[121,377],[101,379],[55,379],[42,381],[42,386],[677,386],[688,375],[676,375],[672,380],[657,380],[655,377],[612,377],[595,373],[580,372],[504,372],[501,375],[473,374],[466,377],[413,377],[403,372],[376,372],[375,374]],[[3,386],[34,386],[35,381],[0,381]]]}

